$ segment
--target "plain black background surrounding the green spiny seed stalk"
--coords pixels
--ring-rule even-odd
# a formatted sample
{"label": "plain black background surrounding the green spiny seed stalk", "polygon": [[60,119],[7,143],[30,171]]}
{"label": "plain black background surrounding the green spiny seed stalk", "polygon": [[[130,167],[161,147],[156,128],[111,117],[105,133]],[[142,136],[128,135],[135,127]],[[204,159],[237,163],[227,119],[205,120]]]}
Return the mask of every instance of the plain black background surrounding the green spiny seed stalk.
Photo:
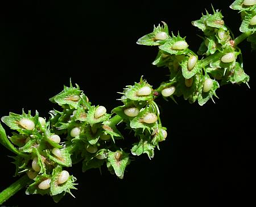
{"label": "plain black background surrounding the green spiny seed stalk", "polygon": [[[3,3],[5,2],[5,3]],[[154,24],[187,36],[197,51],[201,32],[191,25],[205,9],[220,9],[225,23],[239,35],[240,14],[233,1],[1,1],[0,5],[0,117],[9,111],[38,110],[42,117],[58,106],[48,98],[59,93],[69,78],[93,105],[110,111],[125,85],[141,75],[155,88],[168,69],[152,65],[157,48],[136,44]],[[51,197],[18,192],[6,206],[241,206],[255,205],[255,52],[240,45],[250,89],[226,85],[217,90],[216,103],[190,105],[177,98],[158,103],[168,138],[152,160],[141,155],[123,180],[102,168],[81,172],[77,190],[58,204]],[[10,133],[5,125],[6,131]],[[129,138],[129,137],[127,137]],[[16,177],[11,152],[0,146],[0,191]]]}

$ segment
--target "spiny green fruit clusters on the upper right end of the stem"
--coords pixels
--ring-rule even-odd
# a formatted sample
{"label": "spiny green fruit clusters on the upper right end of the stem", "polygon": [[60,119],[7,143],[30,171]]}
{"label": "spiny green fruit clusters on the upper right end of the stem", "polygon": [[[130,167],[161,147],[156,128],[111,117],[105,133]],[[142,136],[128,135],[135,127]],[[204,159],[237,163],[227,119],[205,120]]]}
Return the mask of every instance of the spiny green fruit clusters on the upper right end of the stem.
{"label": "spiny green fruit clusters on the upper right end of the stem", "polygon": [[[240,30],[247,34],[256,31],[255,5],[254,0],[237,0],[230,5],[232,9],[241,9],[243,23]],[[213,96],[217,97],[216,90],[221,85],[249,81],[249,76],[243,72],[241,60],[238,58],[237,61],[241,51],[235,47],[236,42],[230,36],[232,33],[222,18],[221,12],[213,9],[213,14],[207,11],[199,20],[192,21],[192,25],[204,33],[197,51],[197,55],[203,56],[201,59],[188,48],[185,38],[179,34],[175,36],[173,32],[169,36],[166,23],[138,39],[138,44],[157,46],[159,51],[153,64],[170,70],[169,81],[162,82],[156,89],[165,100],[170,97],[175,101],[175,96],[183,96],[189,103],[197,101],[199,105],[204,105],[208,100],[213,100]],[[152,34],[155,42],[151,41]]]}

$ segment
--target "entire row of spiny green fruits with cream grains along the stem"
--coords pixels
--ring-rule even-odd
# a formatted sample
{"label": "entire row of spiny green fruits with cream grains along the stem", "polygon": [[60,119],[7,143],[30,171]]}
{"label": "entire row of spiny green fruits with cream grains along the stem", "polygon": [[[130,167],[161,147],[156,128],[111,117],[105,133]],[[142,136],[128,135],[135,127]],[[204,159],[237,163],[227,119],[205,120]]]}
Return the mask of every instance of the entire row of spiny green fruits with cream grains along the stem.
{"label": "entire row of spiny green fruits with cream grains along the stem", "polygon": [[[238,3],[237,3],[238,2]],[[237,0],[230,7],[242,11],[241,32],[254,34],[256,31],[256,0]],[[131,154],[154,156],[158,142],[167,138],[167,131],[160,122],[160,113],[155,98],[162,94],[164,99],[174,95],[183,96],[200,105],[216,96],[215,90],[221,83],[238,83],[249,80],[242,69],[242,63],[236,62],[240,51],[235,47],[228,28],[222,20],[220,11],[203,15],[192,22],[204,32],[203,42],[198,55],[207,56],[199,60],[196,53],[188,49],[185,38],[179,34],[169,35],[167,24],[154,27],[154,31],[138,40],[138,44],[157,45],[159,53],[153,62],[158,67],[168,67],[170,81],[163,82],[153,90],[146,80],[140,80],[133,86],[127,86],[122,93],[123,106],[118,106],[108,114],[105,106],[91,106],[88,97],[79,89],[64,86],[64,90],[50,100],[63,107],[63,111],[52,110],[51,119],[35,117],[31,113],[10,114],[2,121],[20,134],[11,136],[11,142],[18,146],[22,159],[16,159],[18,173],[26,172],[34,183],[27,188],[28,194],[48,193],[51,196],[70,193],[75,177],[63,170],[72,164],[74,158],[81,156],[82,171],[100,168],[107,164],[110,172],[123,177],[126,165],[130,163],[129,153],[115,145],[115,138],[123,138],[117,129],[120,122],[133,130],[137,140],[133,143]],[[236,74],[236,75],[234,75]],[[61,136],[66,139],[61,142]],[[20,140],[22,140],[20,142]],[[10,142],[8,140],[8,142]],[[118,141],[117,141],[118,142]],[[117,150],[118,149],[118,150]],[[40,190],[39,190],[40,189]],[[41,191],[42,190],[42,191]],[[45,191],[47,190],[47,191]]]}

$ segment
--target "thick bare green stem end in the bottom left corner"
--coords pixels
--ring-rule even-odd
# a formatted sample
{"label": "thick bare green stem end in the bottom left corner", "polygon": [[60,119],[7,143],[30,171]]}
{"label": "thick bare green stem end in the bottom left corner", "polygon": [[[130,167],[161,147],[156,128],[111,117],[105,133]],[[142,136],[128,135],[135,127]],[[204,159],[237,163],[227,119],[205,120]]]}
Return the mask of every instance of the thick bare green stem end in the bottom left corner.
{"label": "thick bare green stem end in the bottom left corner", "polygon": [[0,193],[0,205],[2,205],[3,202],[7,201],[16,192],[24,188],[29,183],[29,181],[30,181],[30,178],[27,176],[27,174],[23,175],[22,177],[20,177],[19,180],[15,181],[9,187],[3,190]]}

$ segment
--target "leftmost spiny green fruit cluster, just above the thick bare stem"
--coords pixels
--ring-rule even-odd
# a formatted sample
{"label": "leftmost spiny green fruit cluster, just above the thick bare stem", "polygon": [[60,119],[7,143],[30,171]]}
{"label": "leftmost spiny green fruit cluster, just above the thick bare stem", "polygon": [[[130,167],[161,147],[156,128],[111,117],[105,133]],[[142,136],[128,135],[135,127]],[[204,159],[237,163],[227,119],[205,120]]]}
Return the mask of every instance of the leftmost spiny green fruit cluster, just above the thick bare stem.
{"label": "leftmost spiny green fruit cluster, just above the thick bare stem", "polygon": [[[77,101],[77,97],[72,96],[72,100]],[[75,177],[70,176],[65,170],[57,172],[57,169],[70,167],[71,155],[63,145],[60,145],[61,138],[56,133],[57,131],[49,129],[49,121],[39,117],[37,111],[34,117],[30,111],[28,114],[24,111],[22,114],[10,113],[9,116],[2,117],[2,121],[20,133],[14,133],[10,140],[19,147],[17,148],[20,153],[19,158],[15,159],[16,173],[26,172],[27,176],[33,180],[28,185],[26,193],[38,192],[54,195],[69,192],[69,188],[75,185],[73,183]],[[76,133],[75,130],[71,134],[74,133]],[[53,184],[52,178],[57,175],[57,180],[55,179],[55,184]],[[61,188],[58,188],[60,185]]]}

